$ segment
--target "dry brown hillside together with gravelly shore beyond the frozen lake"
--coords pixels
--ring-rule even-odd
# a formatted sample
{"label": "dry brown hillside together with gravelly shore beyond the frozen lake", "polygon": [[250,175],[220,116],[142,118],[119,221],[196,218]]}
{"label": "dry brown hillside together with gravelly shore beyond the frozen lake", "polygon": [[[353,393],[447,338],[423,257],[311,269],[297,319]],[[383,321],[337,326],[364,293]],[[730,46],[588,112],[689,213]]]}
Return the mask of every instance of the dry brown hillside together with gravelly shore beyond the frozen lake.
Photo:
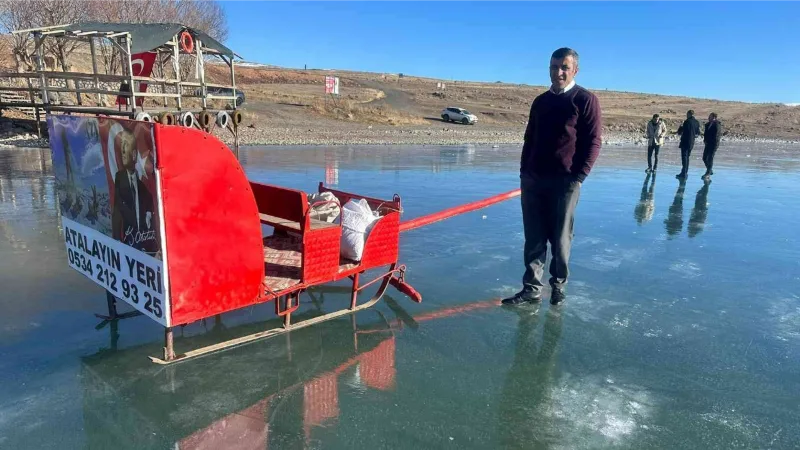
{"label": "dry brown hillside together with gravelly shore beyond the frozen lake", "polygon": [[[6,67],[8,60],[0,57]],[[78,51],[72,60],[73,70],[91,70],[88,54]],[[206,67],[209,81],[226,82],[227,66]],[[243,141],[250,143],[518,142],[531,101],[546,89],[251,63],[238,66],[236,75],[237,87],[247,98],[242,108],[248,126]],[[340,77],[339,98],[325,96],[326,75]],[[546,80],[546,75],[539,79]],[[445,88],[438,88],[439,83]],[[719,114],[728,138],[800,138],[800,107],[796,106],[593,92],[600,99],[605,135],[612,140],[640,139],[654,113],[659,113],[674,131],[688,109],[694,109],[701,122],[710,112]],[[476,114],[477,125],[443,123],[440,113],[448,106]]]}

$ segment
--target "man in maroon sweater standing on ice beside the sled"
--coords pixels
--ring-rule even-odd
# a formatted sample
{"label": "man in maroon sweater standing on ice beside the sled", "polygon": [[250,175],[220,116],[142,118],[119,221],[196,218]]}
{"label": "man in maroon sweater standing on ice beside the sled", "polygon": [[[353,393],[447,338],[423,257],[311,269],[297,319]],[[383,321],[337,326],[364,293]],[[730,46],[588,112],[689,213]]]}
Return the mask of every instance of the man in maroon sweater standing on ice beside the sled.
{"label": "man in maroon sweater standing on ice beside the sled", "polygon": [[575,84],[578,54],[560,48],[550,58],[550,90],[531,105],[520,179],[525,228],[523,288],[503,304],[542,299],[550,242],[550,303],[566,299],[575,207],[581,185],[600,154],[602,118],[597,97]]}

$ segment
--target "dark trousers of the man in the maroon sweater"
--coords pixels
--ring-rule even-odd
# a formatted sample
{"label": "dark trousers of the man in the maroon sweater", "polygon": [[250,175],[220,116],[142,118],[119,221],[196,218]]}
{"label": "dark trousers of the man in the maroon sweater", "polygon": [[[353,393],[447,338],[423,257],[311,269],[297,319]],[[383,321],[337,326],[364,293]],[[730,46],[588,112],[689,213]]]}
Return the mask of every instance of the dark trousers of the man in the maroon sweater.
{"label": "dark trousers of the man in the maroon sweater", "polygon": [[547,243],[550,261],[550,285],[564,289],[569,276],[575,207],[581,184],[572,177],[521,176],[522,224],[525,228],[524,290],[541,295]]}

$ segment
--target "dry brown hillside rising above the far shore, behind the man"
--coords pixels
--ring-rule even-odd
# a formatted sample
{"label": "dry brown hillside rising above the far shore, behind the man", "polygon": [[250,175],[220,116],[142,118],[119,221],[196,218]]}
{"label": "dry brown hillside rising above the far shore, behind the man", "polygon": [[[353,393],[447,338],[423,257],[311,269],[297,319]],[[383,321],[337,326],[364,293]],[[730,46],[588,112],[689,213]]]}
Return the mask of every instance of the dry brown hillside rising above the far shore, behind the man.
{"label": "dry brown hillside rising above the far shore, behind the man", "polygon": [[[209,67],[213,78],[224,76],[221,67]],[[340,77],[340,108],[325,99],[326,75]],[[444,89],[437,83],[445,83]],[[256,124],[333,119],[350,123],[383,123],[441,127],[443,108],[458,106],[476,114],[476,127],[524,129],[531,101],[544,86],[507,83],[444,81],[431,78],[334,70],[293,70],[276,67],[242,67],[237,85],[247,95],[244,110]],[[688,109],[704,121],[719,114],[729,137],[795,140],[800,137],[800,108],[781,104],[730,102],[632,92],[594,91],[600,99],[604,125],[610,133],[644,132],[646,121],[659,113],[675,130]],[[327,103],[328,107],[320,107]],[[345,112],[343,114],[343,112]],[[448,124],[452,127],[453,125]]]}

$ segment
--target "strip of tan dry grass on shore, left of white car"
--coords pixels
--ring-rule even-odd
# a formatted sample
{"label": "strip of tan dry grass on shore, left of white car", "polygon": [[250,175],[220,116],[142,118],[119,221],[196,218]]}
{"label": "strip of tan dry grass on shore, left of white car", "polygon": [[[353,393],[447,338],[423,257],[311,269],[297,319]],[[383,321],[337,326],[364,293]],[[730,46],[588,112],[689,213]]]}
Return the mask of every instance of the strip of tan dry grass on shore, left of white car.
{"label": "strip of tan dry grass on shore, left of white car", "polygon": [[322,116],[359,123],[382,125],[422,125],[427,123],[420,117],[397,111],[387,106],[370,106],[350,100],[314,100],[311,109]]}

